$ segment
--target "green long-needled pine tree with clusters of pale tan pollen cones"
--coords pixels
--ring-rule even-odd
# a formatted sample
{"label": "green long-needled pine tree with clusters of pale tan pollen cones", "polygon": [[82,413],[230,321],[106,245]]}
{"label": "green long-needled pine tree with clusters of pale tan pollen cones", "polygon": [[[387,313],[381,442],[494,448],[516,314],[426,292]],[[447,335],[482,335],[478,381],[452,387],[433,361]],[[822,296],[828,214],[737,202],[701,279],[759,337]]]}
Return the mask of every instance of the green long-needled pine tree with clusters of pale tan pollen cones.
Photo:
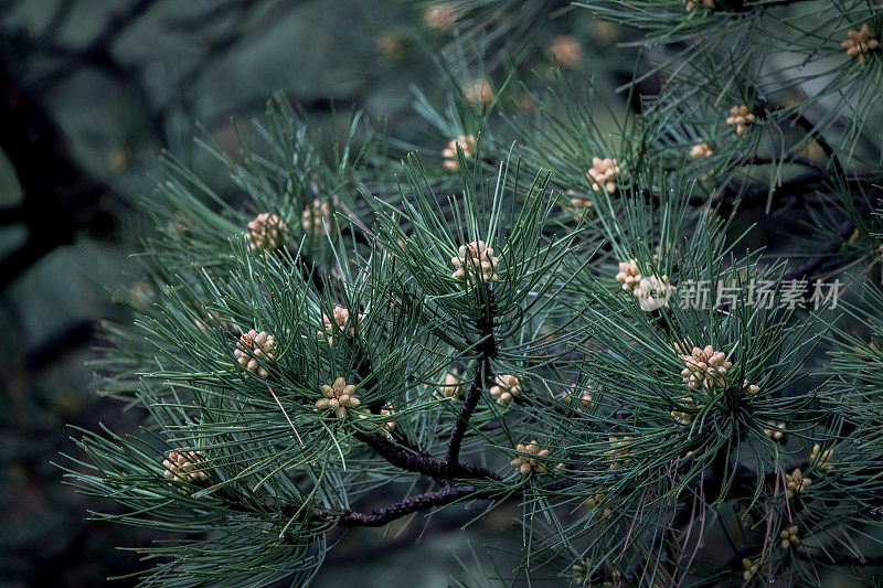
{"label": "green long-needled pine tree with clusters of pale tan pollen cones", "polygon": [[[510,8],[471,4],[426,22],[468,44]],[[71,473],[192,537],[145,548],[146,585],[305,585],[348,528],[513,502],[522,564],[458,585],[883,565],[880,7],[581,7],[643,47],[630,110],[565,72],[572,40],[538,82],[506,39],[444,110],[418,94],[436,136],[401,161],[284,99],[262,146],[205,143],[242,206],[168,159],[152,298],[102,366],[150,419],[83,431]]]}

